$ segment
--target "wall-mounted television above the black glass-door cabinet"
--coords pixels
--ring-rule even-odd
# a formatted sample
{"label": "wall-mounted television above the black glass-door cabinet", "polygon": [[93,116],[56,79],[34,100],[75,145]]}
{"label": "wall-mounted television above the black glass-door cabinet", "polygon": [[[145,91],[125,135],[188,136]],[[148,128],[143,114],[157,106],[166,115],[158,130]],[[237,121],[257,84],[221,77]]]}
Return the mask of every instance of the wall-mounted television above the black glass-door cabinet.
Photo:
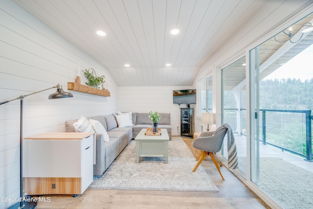
{"label": "wall-mounted television above the black glass-door cabinet", "polygon": [[197,96],[195,89],[173,91],[174,104],[196,104],[196,100]]}

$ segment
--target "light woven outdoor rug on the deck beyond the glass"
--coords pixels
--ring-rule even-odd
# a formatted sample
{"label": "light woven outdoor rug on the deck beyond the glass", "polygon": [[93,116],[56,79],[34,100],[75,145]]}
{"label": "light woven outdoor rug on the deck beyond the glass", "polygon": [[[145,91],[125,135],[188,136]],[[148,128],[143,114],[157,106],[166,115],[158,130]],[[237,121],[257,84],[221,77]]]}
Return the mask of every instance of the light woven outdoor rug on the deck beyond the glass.
{"label": "light woven outdoor rug on the deck beyond the glass", "polygon": [[[246,158],[238,159],[246,170]],[[260,158],[258,186],[286,209],[313,209],[313,173],[281,158]]]}

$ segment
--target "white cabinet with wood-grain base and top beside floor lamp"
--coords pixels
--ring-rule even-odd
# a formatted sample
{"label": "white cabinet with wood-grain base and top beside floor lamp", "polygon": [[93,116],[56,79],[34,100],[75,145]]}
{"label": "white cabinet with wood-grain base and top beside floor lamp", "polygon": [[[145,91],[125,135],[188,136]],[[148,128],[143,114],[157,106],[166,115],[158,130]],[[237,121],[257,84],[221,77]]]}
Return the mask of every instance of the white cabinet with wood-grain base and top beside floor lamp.
{"label": "white cabinet with wood-grain base and top beside floor lamp", "polygon": [[93,142],[93,133],[46,133],[24,138],[24,192],[82,194],[93,181]]}

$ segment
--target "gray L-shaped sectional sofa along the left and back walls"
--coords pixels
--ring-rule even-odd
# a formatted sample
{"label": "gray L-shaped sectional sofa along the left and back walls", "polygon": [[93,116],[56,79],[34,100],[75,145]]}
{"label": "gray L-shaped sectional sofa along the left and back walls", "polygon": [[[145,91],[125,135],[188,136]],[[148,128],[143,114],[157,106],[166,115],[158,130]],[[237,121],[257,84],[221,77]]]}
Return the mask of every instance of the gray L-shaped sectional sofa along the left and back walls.
{"label": "gray L-shaped sectional sofa along the left and back walls", "polygon": [[[116,115],[111,114],[88,118],[99,121],[106,129],[110,138],[109,141],[104,141],[103,134],[96,134],[96,163],[93,165],[94,176],[102,175],[127,144],[138,135],[141,129],[153,127],[153,122],[149,119],[148,113],[132,113],[133,125],[129,127],[118,127]],[[158,128],[166,128],[171,139],[172,127],[170,113],[160,113],[160,115],[161,119],[158,122]],[[73,124],[77,120],[67,120],[65,122],[65,131],[75,132]]]}

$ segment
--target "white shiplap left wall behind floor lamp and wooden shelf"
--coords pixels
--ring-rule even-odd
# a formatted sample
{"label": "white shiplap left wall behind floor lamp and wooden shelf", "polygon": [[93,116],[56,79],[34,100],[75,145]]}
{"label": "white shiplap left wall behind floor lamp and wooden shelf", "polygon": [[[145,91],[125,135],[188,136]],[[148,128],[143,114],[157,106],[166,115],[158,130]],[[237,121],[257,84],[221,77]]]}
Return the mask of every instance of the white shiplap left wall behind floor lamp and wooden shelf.
{"label": "white shiplap left wall behind floor lamp and wooden shelf", "polygon": [[[0,4],[0,102],[37,92],[57,83],[67,91],[78,70],[93,68],[105,75],[111,97],[73,93],[73,98],[48,100],[56,89],[24,99],[23,136],[64,132],[64,122],[117,111],[117,88],[109,72],[76,46],[11,1]],[[82,83],[84,76],[81,74]],[[20,100],[0,106],[0,197],[19,197]],[[34,159],[36,160],[36,159]],[[0,201],[0,208],[12,202]]]}

